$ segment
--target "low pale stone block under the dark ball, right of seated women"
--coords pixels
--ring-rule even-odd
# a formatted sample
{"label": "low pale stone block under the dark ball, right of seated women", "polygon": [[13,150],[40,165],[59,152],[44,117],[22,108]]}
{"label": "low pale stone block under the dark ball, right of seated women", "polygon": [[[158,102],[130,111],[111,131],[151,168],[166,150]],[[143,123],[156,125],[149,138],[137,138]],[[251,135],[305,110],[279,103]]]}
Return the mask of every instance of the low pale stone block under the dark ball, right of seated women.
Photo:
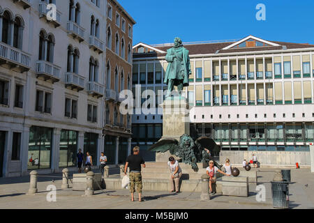
{"label": "low pale stone block under the dark ball, right of seated women", "polygon": [[248,177],[223,176],[217,179],[217,193],[227,196],[248,197],[248,191]]}

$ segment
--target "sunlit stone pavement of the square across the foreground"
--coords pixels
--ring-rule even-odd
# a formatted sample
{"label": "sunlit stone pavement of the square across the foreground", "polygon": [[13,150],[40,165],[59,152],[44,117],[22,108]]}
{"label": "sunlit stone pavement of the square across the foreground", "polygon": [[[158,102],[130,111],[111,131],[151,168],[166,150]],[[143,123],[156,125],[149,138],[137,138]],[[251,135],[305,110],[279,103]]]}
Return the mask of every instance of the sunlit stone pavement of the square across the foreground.
{"label": "sunlit stone pavement of the square across the foreground", "polygon": [[[93,208],[93,209],[213,209],[213,208],[273,208],[271,200],[271,183],[274,170],[258,169],[258,185],[266,187],[266,201],[256,201],[256,185],[250,184],[249,197],[228,197],[220,194],[211,195],[210,201],[200,201],[200,192],[145,191],[144,202],[131,202],[128,190],[96,191],[94,196],[86,197],[84,192],[75,192],[70,188],[61,190],[61,180],[50,174],[38,180],[38,193],[26,194],[29,189],[29,177],[0,178],[0,208]],[[72,174],[70,174],[71,176]],[[310,169],[292,169],[290,185],[290,208],[314,208],[314,174]],[[52,182],[54,180],[54,182]],[[57,187],[57,201],[48,202],[47,185]],[[135,197],[136,198],[136,197]]]}

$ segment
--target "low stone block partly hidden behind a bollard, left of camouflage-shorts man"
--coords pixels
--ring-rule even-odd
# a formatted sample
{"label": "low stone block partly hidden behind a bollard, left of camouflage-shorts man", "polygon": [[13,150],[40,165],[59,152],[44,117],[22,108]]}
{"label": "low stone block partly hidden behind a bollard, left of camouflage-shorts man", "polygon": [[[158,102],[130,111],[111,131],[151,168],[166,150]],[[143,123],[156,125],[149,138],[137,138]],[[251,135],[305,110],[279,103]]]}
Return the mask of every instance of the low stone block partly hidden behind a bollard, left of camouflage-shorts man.
{"label": "low stone block partly hidden behind a bollard, left of camouflage-shorts man", "polygon": [[[103,189],[103,178],[100,173],[94,176],[93,190]],[[84,191],[86,189],[86,174],[73,174],[73,188],[72,190]]]}

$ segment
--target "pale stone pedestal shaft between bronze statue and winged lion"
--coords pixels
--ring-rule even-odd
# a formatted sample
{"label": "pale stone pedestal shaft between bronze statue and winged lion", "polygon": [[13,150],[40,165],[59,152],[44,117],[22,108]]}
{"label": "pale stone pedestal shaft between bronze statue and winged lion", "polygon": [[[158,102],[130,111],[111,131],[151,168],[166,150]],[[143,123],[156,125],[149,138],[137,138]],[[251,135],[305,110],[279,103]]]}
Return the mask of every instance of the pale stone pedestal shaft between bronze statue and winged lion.
{"label": "pale stone pedestal shaft between bronze statue and winged lion", "polygon": [[179,141],[182,134],[190,134],[189,107],[186,98],[171,97],[160,105],[163,108],[163,137]]}

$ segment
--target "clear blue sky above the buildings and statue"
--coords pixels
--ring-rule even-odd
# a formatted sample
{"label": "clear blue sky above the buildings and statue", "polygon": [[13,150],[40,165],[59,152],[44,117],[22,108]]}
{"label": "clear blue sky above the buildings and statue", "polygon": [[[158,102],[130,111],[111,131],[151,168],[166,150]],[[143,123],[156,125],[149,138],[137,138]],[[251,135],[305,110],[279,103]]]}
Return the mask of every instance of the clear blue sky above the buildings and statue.
{"label": "clear blue sky above the buildings and statue", "polygon": [[[118,0],[137,22],[133,44],[229,40],[248,35],[314,44],[313,0]],[[257,21],[258,3],[266,20]]]}

